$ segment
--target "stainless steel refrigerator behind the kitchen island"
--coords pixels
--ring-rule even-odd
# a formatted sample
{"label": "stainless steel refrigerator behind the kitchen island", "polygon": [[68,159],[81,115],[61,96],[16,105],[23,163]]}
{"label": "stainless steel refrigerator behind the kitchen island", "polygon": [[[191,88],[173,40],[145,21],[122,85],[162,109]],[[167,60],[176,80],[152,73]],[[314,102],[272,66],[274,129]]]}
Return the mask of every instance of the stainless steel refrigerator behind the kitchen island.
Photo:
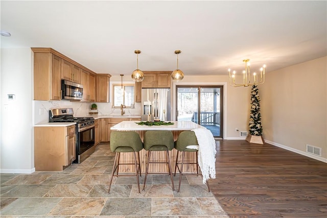
{"label": "stainless steel refrigerator behind the kitchen island", "polygon": [[143,121],[170,121],[171,118],[170,89],[142,89],[141,115]]}

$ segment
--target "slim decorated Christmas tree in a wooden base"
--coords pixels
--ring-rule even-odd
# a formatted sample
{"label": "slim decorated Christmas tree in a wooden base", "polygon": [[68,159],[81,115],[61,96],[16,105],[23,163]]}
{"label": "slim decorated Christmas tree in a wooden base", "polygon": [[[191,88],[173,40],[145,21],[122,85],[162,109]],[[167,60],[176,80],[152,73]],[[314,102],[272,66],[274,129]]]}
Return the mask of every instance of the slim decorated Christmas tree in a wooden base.
{"label": "slim decorated Christmas tree in a wooden base", "polygon": [[[250,121],[249,121],[249,132],[250,135],[247,137],[247,141],[252,143],[263,144],[262,138],[262,125],[261,125],[261,114],[260,114],[260,97],[258,85],[252,85],[251,90],[251,110],[250,110]],[[257,136],[256,138],[252,136]]]}

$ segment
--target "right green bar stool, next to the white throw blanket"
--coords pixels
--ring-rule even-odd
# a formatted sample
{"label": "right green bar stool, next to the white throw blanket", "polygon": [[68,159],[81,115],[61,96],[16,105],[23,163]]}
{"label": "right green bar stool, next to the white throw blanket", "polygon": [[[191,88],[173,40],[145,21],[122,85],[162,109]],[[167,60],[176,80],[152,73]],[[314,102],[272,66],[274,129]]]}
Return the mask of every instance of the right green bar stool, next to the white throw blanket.
{"label": "right green bar stool, next to the white throw blanket", "polygon": [[[190,145],[195,145],[190,146]],[[178,168],[179,171],[179,184],[178,184],[178,192],[180,189],[180,182],[182,180],[182,175],[202,175],[199,173],[199,163],[198,163],[198,149],[195,148],[198,146],[198,140],[196,139],[195,133],[193,131],[183,131],[179,134],[177,141],[175,142],[175,149],[177,149],[177,155],[176,155],[176,165],[175,165],[175,173],[174,176],[176,175],[176,169]],[[188,148],[188,146],[193,147],[193,148]],[[178,162],[178,152],[182,152],[182,161]],[[185,157],[185,152],[196,152],[196,162],[184,162],[184,157]],[[180,164],[180,168],[178,166]],[[196,174],[195,173],[183,173],[183,165],[184,164],[196,164]],[[206,181],[206,185],[208,187],[208,191],[211,192],[209,183]]]}

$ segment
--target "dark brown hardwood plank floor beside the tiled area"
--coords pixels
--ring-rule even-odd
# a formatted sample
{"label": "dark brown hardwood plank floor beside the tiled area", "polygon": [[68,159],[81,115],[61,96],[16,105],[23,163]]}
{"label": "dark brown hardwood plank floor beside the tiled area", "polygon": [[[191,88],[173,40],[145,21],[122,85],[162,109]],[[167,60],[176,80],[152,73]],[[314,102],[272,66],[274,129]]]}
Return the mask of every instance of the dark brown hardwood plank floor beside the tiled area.
{"label": "dark brown hardwood plank floor beside the tiled area", "polygon": [[217,141],[211,190],[232,217],[327,217],[327,164],[270,145]]}

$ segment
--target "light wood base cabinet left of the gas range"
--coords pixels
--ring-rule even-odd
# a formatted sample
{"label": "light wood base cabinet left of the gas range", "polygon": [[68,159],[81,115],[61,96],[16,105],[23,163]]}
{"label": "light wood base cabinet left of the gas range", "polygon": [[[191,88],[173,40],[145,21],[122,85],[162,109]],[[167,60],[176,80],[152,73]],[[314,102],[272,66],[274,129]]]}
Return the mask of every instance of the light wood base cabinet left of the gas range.
{"label": "light wood base cabinet left of the gas range", "polygon": [[76,125],[34,127],[37,171],[62,171],[76,159]]}

